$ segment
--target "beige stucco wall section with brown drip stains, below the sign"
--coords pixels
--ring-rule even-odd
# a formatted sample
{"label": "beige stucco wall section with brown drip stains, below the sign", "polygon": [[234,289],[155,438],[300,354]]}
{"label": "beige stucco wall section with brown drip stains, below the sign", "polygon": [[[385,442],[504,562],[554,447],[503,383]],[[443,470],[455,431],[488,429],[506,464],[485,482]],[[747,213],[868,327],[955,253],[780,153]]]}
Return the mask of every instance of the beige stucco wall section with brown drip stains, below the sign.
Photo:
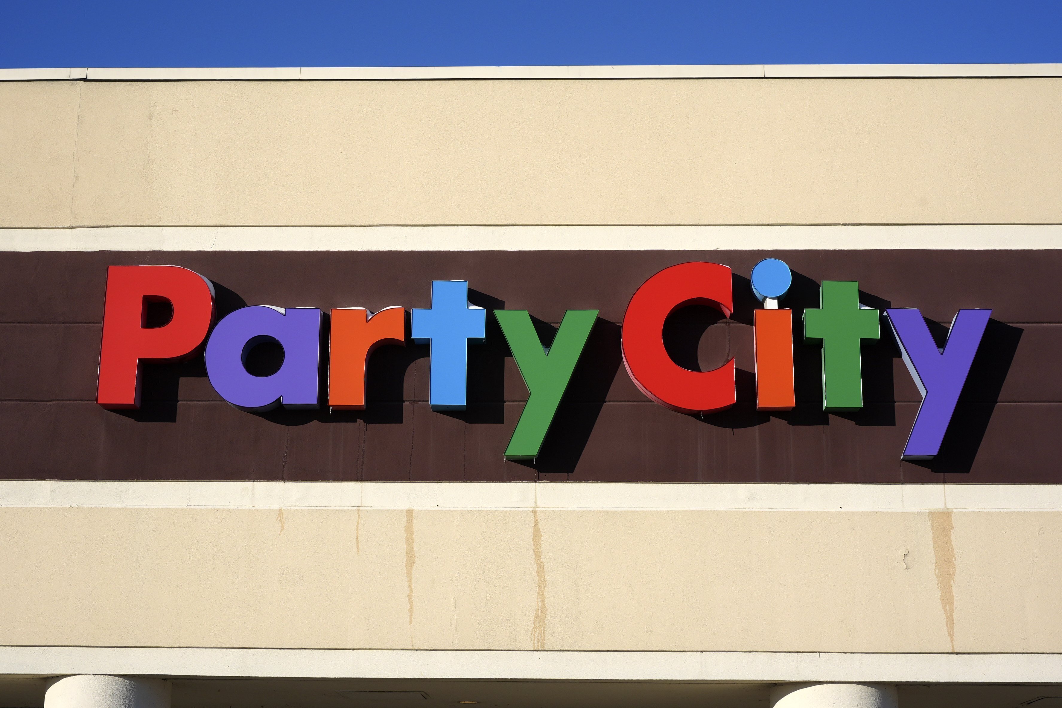
{"label": "beige stucco wall section with brown drip stains, below the sign", "polygon": [[4,508],[0,537],[3,644],[1062,651],[1062,513]]}

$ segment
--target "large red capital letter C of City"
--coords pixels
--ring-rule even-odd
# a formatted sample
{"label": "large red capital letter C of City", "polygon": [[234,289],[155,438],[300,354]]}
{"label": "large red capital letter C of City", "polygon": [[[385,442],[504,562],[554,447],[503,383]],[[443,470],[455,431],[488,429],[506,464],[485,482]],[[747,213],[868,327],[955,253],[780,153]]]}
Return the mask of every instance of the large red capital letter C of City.
{"label": "large red capital letter C of City", "polygon": [[734,310],[731,270],[719,263],[680,263],[638,288],[623,315],[623,365],[641,393],[681,413],[712,413],[737,400],[734,359],[710,372],[675,364],[664,348],[664,321],[686,305]]}

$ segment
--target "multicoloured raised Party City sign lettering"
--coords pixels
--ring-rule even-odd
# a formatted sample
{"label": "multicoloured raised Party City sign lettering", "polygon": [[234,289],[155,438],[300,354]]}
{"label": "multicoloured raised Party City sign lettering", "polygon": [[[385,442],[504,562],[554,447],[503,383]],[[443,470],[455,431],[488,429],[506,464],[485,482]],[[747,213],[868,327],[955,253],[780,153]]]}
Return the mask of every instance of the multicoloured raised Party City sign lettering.
{"label": "multicoloured raised Party City sign lettering", "polygon": [[[753,316],[756,408],[761,411],[788,411],[795,405],[792,311],[778,307],[791,279],[788,265],[776,259],[760,261],[751,274],[753,292],[764,305]],[[169,322],[148,325],[152,301],[170,305]],[[695,372],[675,364],[668,355],[665,321],[675,310],[695,304],[730,316],[734,309],[731,269],[688,262],[649,278],[631,297],[623,316],[622,358],[646,396],[681,413],[704,414],[736,402],[736,374],[733,359],[716,369]],[[330,409],[364,409],[369,357],[380,345],[404,346],[412,339],[430,345],[431,408],[465,408],[468,347],[482,343],[486,331],[486,311],[468,303],[467,281],[433,281],[431,307],[412,310],[408,338],[402,307],[375,314],[364,308],[341,308],[329,314],[328,367],[323,373],[325,317],[320,309],[251,306],[215,325],[213,286],[198,273],[173,265],[110,266],[97,402],[108,409],[139,408],[144,362],[188,359],[204,351],[211,385],[239,409],[319,408],[323,376],[327,377]],[[568,310],[547,347],[527,310],[494,311],[530,392],[506,459],[538,455],[597,314],[597,310]],[[903,459],[929,460],[940,450],[992,311],[959,310],[944,347],[938,347],[918,309],[887,309],[885,314],[922,393]],[[878,310],[859,304],[859,283],[853,280],[824,281],[820,307],[804,311],[804,342],[822,349],[824,411],[862,408],[860,349],[863,341],[879,339],[879,322]],[[263,342],[279,344],[284,361],[275,373],[256,376],[247,370],[247,356]]]}

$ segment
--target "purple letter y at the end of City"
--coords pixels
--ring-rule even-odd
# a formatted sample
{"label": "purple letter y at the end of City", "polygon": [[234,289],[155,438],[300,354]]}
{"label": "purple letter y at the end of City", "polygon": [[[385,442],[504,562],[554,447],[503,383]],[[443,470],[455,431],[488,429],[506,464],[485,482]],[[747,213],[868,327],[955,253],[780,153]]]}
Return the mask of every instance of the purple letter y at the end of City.
{"label": "purple letter y at the end of City", "polygon": [[914,308],[886,310],[900,351],[922,392],[922,405],[904,448],[903,460],[931,460],[940,451],[947,424],[966,382],[992,310],[959,310],[943,349]]}

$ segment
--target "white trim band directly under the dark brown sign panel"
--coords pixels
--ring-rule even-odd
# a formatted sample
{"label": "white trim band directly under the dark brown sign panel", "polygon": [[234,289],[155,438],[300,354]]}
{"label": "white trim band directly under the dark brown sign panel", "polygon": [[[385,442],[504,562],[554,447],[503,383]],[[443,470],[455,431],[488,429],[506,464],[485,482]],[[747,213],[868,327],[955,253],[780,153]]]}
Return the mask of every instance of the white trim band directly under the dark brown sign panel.
{"label": "white trim band directly under the dark brown sign panel", "polygon": [[7,480],[3,507],[1058,512],[1062,485]]}

